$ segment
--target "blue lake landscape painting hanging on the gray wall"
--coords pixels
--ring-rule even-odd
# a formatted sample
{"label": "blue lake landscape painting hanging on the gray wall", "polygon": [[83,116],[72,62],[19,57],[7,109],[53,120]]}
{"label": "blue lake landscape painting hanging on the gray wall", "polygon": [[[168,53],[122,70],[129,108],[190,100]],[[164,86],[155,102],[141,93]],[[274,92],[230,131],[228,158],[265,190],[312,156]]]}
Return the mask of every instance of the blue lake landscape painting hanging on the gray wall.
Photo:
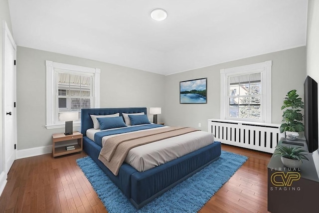
{"label": "blue lake landscape painting hanging on the gray wall", "polygon": [[179,103],[207,103],[207,78],[179,82]]}

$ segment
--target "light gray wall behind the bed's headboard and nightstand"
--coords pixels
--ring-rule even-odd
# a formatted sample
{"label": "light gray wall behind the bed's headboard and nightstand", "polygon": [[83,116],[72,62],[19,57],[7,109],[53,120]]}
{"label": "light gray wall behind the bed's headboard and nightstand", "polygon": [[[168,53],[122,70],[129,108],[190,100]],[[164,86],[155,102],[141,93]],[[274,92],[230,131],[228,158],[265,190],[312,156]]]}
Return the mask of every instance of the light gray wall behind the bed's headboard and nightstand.
{"label": "light gray wall behind the bed's headboard and nightstand", "polygon": [[[18,46],[17,149],[51,145],[46,124],[45,60],[101,69],[101,107],[162,107],[164,76],[137,69]],[[152,118],[151,115],[149,115]],[[162,121],[159,116],[159,121]]]}

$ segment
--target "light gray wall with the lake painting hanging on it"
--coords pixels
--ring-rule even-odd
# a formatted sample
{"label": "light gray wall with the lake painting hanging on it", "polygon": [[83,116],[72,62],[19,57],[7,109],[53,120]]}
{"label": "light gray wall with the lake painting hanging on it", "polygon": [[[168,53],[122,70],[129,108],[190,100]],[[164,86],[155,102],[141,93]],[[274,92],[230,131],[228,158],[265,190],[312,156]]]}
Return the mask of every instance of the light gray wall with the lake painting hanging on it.
{"label": "light gray wall with the lake painting hanging on it", "polygon": [[[297,89],[303,97],[305,46],[165,76],[165,123],[207,131],[207,119],[220,118],[220,69],[267,60],[272,60],[272,123],[281,123],[281,105],[287,92]],[[207,104],[179,104],[179,82],[204,77],[207,77]],[[201,123],[201,127],[198,127],[198,123]]]}

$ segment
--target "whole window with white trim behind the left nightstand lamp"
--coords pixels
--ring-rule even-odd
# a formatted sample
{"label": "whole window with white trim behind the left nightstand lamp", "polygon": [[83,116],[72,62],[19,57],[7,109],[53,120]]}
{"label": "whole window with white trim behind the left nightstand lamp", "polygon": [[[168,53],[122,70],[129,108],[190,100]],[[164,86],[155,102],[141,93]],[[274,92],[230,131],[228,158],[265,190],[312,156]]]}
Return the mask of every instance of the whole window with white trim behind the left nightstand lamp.
{"label": "whole window with white trim behind the left nightstand lamp", "polygon": [[100,107],[100,69],[46,61],[46,94],[46,128],[63,128],[61,112]]}

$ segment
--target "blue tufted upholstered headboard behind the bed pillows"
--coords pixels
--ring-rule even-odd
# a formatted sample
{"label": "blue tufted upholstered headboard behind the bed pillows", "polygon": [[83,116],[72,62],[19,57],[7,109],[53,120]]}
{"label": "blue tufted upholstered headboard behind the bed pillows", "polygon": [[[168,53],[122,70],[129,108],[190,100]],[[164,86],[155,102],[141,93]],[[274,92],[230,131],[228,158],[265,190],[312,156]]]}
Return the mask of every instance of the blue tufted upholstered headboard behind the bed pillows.
{"label": "blue tufted upholstered headboard behind the bed pillows", "polygon": [[93,108],[81,109],[81,133],[86,136],[86,130],[93,128],[93,122],[90,115],[111,115],[115,113],[138,113],[144,112],[147,115],[146,107],[130,107],[130,108]]}

